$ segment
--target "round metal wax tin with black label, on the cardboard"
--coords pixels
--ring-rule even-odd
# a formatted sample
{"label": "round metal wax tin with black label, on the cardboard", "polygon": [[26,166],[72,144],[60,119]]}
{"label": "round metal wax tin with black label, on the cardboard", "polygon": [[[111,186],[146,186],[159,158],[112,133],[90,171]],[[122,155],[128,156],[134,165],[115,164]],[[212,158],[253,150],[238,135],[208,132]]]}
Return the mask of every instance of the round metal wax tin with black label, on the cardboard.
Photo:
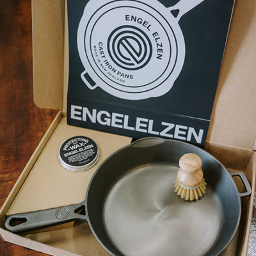
{"label": "round metal wax tin with black label, on the cardboard", "polygon": [[83,172],[99,159],[99,149],[92,139],[74,136],[64,141],[59,150],[59,161],[67,170]]}

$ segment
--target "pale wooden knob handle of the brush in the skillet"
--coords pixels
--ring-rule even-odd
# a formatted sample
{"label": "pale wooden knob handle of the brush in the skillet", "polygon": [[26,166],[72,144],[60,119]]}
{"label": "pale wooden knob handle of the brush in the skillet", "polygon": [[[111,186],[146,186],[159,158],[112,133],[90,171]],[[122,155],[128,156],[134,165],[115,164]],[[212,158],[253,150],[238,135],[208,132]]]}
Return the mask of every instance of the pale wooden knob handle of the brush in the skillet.
{"label": "pale wooden knob handle of the brush in the skillet", "polygon": [[196,188],[204,179],[204,173],[201,169],[202,160],[196,154],[185,154],[180,157],[180,169],[178,171],[178,180],[186,188]]}

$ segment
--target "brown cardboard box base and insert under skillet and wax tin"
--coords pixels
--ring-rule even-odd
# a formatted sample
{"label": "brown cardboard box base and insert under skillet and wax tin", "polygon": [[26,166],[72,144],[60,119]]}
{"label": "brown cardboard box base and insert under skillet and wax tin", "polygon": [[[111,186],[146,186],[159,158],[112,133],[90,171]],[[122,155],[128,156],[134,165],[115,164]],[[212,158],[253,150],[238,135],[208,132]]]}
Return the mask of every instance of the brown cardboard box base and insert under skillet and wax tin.
{"label": "brown cardboard box base and insert under skillet and wax tin", "polygon": [[[99,163],[86,172],[70,172],[63,168],[58,161],[58,147],[61,141],[75,134],[86,134],[99,145],[101,153]],[[89,256],[108,255],[93,236],[87,223],[77,221],[74,227],[61,227],[58,230],[44,230],[44,232],[23,236],[4,230],[3,225],[5,215],[61,207],[83,201],[88,182],[100,162],[118,148],[129,143],[131,143],[131,138],[69,126],[66,124],[65,116],[59,113],[1,210],[0,225],[3,239],[51,255],[73,255],[73,253],[76,253],[74,255]],[[207,143],[206,147],[211,154],[217,156],[226,166],[230,167],[228,168],[230,172],[236,171],[234,166],[239,167],[239,170],[245,173],[252,184],[252,189],[255,189],[252,182],[255,179],[255,153],[249,150],[223,147],[216,143]],[[56,154],[52,154],[52,152],[56,152]],[[47,159],[47,163],[45,159]],[[239,190],[243,191],[244,187],[241,180],[237,179],[236,183]],[[27,204],[28,197],[29,204]],[[45,198],[51,198],[51,200],[45,200]],[[222,255],[231,256],[236,255],[236,253],[246,255],[252,204],[253,196],[243,198],[239,233],[236,234]]]}

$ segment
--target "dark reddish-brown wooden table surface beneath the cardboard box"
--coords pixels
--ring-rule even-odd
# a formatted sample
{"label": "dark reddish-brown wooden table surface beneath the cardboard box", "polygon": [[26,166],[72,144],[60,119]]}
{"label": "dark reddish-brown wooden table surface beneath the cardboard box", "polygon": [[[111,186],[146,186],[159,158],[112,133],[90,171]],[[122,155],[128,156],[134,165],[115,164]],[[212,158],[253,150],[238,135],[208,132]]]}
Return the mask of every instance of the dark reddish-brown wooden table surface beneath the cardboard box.
{"label": "dark reddish-brown wooden table surface beneath the cardboard box", "polygon": [[[54,0],[53,0],[54,1]],[[31,0],[0,1],[0,208],[57,110],[33,103]],[[256,255],[256,209],[248,256]],[[0,239],[0,255],[36,255]]]}

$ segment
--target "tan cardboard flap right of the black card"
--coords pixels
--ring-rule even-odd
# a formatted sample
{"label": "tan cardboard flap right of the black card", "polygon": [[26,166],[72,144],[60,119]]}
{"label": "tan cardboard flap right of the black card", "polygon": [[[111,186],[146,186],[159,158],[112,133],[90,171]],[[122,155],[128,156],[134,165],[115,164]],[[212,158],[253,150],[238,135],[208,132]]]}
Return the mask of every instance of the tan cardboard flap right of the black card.
{"label": "tan cardboard flap right of the black card", "polygon": [[236,1],[207,136],[250,150],[256,136],[255,24],[255,1]]}

